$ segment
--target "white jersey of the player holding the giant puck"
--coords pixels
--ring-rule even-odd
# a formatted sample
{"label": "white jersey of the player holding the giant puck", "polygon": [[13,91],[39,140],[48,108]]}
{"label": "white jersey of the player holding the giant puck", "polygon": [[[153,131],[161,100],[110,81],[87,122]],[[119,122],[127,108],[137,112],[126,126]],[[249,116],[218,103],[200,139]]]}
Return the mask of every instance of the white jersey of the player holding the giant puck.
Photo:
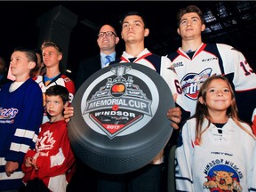
{"label": "white jersey of the player holding the giant puck", "polygon": [[[188,111],[188,107],[186,105],[186,101],[183,93],[181,92],[180,83],[177,79],[177,74],[173,71],[172,62],[168,58],[164,56],[159,56],[149,52],[147,48],[145,48],[138,57],[134,58],[132,55],[127,52],[123,52],[120,59],[115,60],[114,63],[122,63],[122,62],[132,62],[138,63],[140,65],[146,66],[155,70],[160,76],[162,76],[165,82],[169,85],[172,95],[177,94],[176,103],[185,111]],[[172,96],[170,95],[170,96]]]}

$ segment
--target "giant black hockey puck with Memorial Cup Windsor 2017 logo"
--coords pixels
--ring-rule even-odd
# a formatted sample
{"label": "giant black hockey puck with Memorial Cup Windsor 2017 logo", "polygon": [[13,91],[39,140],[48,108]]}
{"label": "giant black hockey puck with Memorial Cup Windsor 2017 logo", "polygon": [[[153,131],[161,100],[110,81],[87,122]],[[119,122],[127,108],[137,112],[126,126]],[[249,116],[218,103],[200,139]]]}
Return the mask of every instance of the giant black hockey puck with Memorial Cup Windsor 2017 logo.
{"label": "giant black hockey puck with Memorial Cup Windsor 2017 logo", "polygon": [[72,102],[71,146],[84,164],[121,174],[149,164],[172,135],[172,92],[151,68],[118,63],[90,76]]}

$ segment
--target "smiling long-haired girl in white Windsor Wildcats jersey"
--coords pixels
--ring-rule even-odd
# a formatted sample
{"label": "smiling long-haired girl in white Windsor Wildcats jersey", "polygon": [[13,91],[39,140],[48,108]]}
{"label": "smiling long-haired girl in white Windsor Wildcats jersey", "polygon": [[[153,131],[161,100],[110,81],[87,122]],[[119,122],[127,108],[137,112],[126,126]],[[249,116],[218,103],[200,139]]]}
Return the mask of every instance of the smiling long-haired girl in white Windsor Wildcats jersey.
{"label": "smiling long-haired girl in white Windsor Wildcats jersey", "polygon": [[255,136],[237,116],[224,76],[211,76],[198,93],[196,113],[176,148],[177,191],[255,191]]}

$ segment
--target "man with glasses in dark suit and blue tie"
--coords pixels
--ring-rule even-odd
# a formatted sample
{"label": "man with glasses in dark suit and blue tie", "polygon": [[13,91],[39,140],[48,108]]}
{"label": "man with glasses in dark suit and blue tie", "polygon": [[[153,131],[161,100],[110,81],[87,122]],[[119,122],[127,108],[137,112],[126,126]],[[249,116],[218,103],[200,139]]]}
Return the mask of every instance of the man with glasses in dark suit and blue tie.
{"label": "man with glasses in dark suit and blue tie", "polygon": [[[98,34],[97,43],[100,47],[100,54],[83,60],[76,75],[76,90],[84,83],[84,81],[92,76],[93,73],[104,68],[105,64],[116,60],[116,44],[119,37],[116,35],[116,29],[109,24],[103,25]],[[106,56],[108,55],[108,59]]]}

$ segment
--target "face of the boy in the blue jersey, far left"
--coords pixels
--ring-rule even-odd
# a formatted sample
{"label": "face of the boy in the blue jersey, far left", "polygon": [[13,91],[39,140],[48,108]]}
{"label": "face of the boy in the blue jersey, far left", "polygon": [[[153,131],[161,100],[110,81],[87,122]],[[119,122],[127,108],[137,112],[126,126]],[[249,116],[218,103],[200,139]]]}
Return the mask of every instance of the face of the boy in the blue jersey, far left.
{"label": "face of the boy in the blue jersey, far left", "polygon": [[30,70],[34,68],[35,65],[35,62],[28,61],[25,52],[17,51],[12,53],[10,67],[12,75],[16,76],[16,78],[20,76],[29,76]]}

